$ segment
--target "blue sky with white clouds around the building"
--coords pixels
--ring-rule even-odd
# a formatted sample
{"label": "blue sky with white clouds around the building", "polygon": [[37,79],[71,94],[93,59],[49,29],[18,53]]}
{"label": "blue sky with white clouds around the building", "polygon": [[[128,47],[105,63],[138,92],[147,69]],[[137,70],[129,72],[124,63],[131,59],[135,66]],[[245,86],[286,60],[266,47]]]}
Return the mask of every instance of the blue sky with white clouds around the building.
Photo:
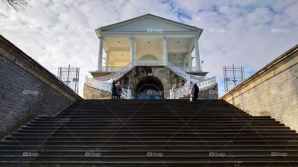
{"label": "blue sky with white clouds around the building", "polygon": [[84,77],[97,67],[93,30],[151,13],[204,29],[203,71],[216,75],[222,95],[223,66],[244,66],[247,78],[298,44],[297,9],[295,0],[31,0],[18,13],[0,5],[0,33],[55,75],[58,66],[80,67],[83,97]]}

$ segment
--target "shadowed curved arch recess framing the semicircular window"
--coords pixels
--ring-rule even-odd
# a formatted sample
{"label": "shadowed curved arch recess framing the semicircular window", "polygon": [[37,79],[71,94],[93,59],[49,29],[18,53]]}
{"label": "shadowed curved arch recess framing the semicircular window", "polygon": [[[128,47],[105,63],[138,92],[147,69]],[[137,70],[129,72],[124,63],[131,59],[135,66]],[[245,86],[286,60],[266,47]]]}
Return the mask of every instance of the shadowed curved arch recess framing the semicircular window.
{"label": "shadowed curved arch recess framing the semicircular window", "polygon": [[158,79],[156,78],[155,76],[146,76],[146,77],[143,77],[142,79],[140,79],[138,81],[138,83],[136,84],[136,87],[135,87],[135,97],[138,98],[138,92],[139,90],[144,87],[145,85],[154,85],[156,86],[159,91],[161,91],[161,98],[164,99],[164,86],[163,86],[163,83]]}

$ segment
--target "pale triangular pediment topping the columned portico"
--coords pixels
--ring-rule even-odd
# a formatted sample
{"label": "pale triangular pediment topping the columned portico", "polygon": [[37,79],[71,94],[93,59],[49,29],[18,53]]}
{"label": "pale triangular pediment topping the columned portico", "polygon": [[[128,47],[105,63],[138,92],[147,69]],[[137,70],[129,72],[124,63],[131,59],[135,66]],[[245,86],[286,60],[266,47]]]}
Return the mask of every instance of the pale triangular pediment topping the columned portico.
{"label": "pale triangular pediment topping the columned portico", "polygon": [[116,24],[111,24],[99,28],[101,31],[109,32],[200,32],[201,28],[196,28],[187,24],[178,23],[159,16],[147,14],[133,19],[129,19]]}

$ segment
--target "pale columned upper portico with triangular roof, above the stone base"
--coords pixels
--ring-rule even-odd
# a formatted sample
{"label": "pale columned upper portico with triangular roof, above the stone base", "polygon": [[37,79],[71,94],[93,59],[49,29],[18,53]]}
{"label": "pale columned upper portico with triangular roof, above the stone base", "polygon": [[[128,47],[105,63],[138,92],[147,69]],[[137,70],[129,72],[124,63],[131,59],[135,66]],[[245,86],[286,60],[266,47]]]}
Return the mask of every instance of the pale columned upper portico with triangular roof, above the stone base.
{"label": "pale columned upper portico with triangular roof, above the stone base", "polygon": [[[98,28],[95,32],[99,52],[94,72],[117,71],[132,60],[158,59],[167,60],[185,72],[207,74],[200,65],[201,28],[147,14]],[[192,64],[193,58],[196,61]]]}

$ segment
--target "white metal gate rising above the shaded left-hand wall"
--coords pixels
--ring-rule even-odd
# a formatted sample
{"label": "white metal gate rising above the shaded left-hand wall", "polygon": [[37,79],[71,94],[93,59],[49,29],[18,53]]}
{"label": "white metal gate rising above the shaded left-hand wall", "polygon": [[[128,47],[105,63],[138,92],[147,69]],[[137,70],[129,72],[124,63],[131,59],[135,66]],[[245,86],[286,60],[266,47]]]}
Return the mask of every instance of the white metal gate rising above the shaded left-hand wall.
{"label": "white metal gate rising above the shaded left-hand wall", "polygon": [[80,67],[58,67],[58,77],[64,81],[76,94],[79,94],[79,72]]}

